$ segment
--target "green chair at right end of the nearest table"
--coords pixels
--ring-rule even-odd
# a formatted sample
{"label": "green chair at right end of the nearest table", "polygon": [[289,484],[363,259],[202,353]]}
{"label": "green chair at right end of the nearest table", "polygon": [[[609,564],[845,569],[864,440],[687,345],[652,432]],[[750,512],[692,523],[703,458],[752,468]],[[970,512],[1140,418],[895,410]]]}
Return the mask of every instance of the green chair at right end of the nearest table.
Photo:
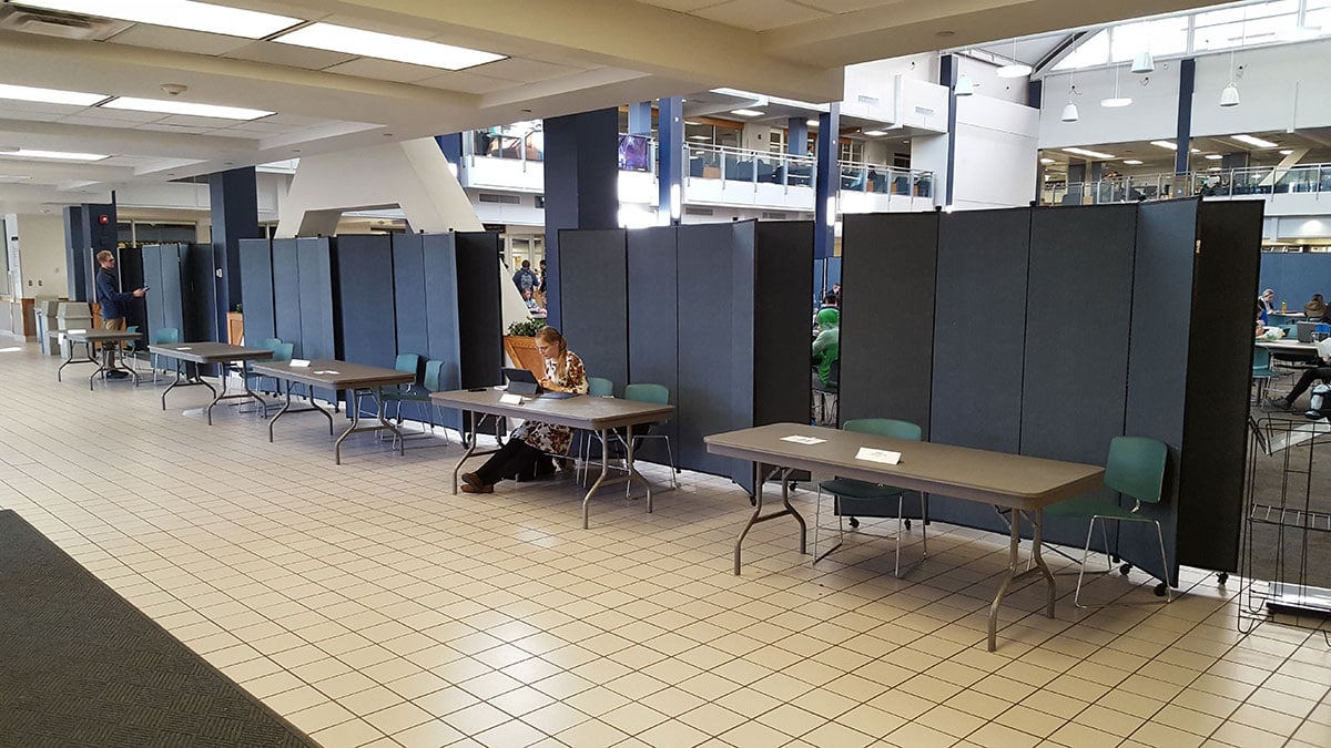
{"label": "green chair at right end of the nearest table", "polygon": [[[1045,516],[1071,516],[1087,518],[1090,526],[1086,528],[1086,547],[1082,550],[1081,572],[1077,575],[1077,594],[1073,603],[1078,608],[1099,608],[1105,606],[1083,606],[1081,602],[1082,580],[1086,576],[1086,560],[1090,558],[1090,539],[1095,532],[1095,520],[1101,520],[1101,539],[1109,552],[1109,535],[1103,522],[1147,522],[1155,526],[1155,539],[1161,546],[1161,568],[1169,576],[1169,559],[1165,555],[1165,534],[1161,523],[1153,516],[1142,515],[1145,504],[1158,504],[1165,486],[1165,465],[1169,458],[1169,447],[1163,442],[1147,437],[1114,437],[1109,443],[1109,463],[1105,466],[1105,486],[1118,491],[1123,496],[1133,499],[1133,508],[1125,508],[1117,500],[1109,502],[1095,496],[1077,496],[1065,502],[1058,502],[1045,507]],[[1113,556],[1110,556],[1113,571]],[[1119,571],[1123,576],[1131,571],[1131,564],[1123,564]],[[1174,599],[1174,592],[1167,579],[1155,586],[1155,595],[1165,598],[1165,603]]]}

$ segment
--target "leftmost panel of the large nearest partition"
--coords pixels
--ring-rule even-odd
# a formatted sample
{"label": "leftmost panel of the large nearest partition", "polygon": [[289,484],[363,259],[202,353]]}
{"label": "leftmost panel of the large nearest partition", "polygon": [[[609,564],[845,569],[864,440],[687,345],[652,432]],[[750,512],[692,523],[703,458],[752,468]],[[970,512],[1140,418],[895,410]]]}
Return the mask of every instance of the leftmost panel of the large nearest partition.
{"label": "leftmost panel of the large nearest partition", "polygon": [[896,418],[918,423],[929,438],[938,220],[940,213],[844,218],[843,422]]}

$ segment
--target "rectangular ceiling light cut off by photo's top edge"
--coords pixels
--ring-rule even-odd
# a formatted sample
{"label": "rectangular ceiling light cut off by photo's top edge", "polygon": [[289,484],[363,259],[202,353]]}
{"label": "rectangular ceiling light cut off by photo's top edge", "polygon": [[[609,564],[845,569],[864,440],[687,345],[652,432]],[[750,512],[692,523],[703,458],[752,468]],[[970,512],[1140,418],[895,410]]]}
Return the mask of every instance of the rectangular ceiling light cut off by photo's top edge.
{"label": "rectangular ceiling light cut off by photo's top edge", "polygon": [[305,23],[301,19],[210,5],[192,0],[23,0],[24,5],[67,13],[117,19],[158,27],[225,33],[244,39],[264,39],[284,28]]}

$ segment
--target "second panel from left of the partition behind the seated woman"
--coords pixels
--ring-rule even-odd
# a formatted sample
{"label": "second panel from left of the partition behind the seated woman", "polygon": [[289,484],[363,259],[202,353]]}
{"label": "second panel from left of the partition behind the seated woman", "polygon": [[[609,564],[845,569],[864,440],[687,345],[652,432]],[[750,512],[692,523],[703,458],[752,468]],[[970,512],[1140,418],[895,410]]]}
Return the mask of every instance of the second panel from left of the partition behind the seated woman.
{"label": "second panel from left of the partition behind the seated woman", "polygon": [[[679,405],[679,252],[676,226],[632,229],[626,234],[628,252],[628,374],[615,381],[615,394],[624,394],[624,385],[642,382],[662,385]],[[567,297],[566,297],[567,298]],[[567,317],[566,317],[567,319]],[[685,333],[687,334],[687,333]],[[669,437],[676,461],[680,461],[680,411],[656,434]],[[660,439],[643,442],[640,457],[664,465],[666,445]],[[683,465],[683,463],[680,463]]]}

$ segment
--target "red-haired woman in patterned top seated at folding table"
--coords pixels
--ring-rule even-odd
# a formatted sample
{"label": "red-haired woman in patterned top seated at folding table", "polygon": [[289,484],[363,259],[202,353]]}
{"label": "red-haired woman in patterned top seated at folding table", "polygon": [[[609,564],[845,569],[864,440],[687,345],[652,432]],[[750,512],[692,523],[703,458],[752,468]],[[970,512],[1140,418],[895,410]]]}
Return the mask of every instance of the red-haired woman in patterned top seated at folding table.
{"label": "red-haired woman in patterned top seated at folding table", "polygon": [[[540,386],[560,393],[587,394],[587,370],[578,354],[559,330],[542,327],[536,333],[536,350],[546,359],[546,375]],[[475,472],[462,474],[462,490],[467,494],[491,494],[495,483],[504,478],[535,478],[550,475],[555,466],[551,454],[568,454],[574,430],[567,426],[527,421],[514,430],[504,446],[490,455]]]}

